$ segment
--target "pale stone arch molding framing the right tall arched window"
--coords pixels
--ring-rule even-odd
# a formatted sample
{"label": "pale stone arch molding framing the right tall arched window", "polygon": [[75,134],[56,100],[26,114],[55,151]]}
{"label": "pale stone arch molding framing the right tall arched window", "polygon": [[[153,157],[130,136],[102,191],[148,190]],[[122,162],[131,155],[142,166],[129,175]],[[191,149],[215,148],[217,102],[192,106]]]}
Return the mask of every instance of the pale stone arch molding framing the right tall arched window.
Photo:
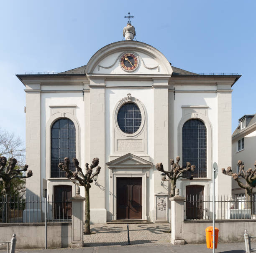
{"label": "pale stone arch molding framing the right tall arched window", "polygon": [[[205,110],[207,112],[207,110]],[[207,115],[207,113],[205,113]],[[207,178],[198,178],[200,180],[202,179],[210,179],[212,177],[211,168],[212,168],[212,124],[210,123],[210,120],[207,116],[205,116],[202,113],[195,113],[195,110],[193,110],[193,113],[188,113],[186,115],[182,116],[182,119],[179,121],[178,125],[178,155],[180,156],[180,160],[182,161],[182,128],[184,123],[186,123],[188,120],[201,120],[206,127],[206,137],[207,137]],[[195,178],[196,179],[196,178]],[[197,180],[197,179],[196,179]]]}

